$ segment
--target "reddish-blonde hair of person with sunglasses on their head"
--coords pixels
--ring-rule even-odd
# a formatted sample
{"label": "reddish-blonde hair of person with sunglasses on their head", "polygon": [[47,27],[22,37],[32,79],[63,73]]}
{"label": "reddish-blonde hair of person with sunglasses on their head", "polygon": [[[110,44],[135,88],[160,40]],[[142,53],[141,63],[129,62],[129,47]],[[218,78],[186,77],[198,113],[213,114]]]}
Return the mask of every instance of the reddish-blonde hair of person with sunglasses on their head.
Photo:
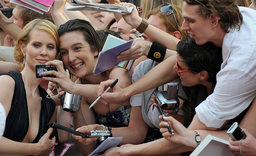
{"label": "reddish-blonde hair of person with sunglasses on their head", "polygon": [[166,16],[160,11],[161,8],[153,9],[151,12],[148,13],[147,18],[149,18],[149,16],[152,15],[152,14],[157,14],[158,17],[161,19],[161,24],[163,24],[165,27],[167,27],[167,29],[170,32],[174,32],[174,31],[179,31],[180,32],[180,34],[181,34],[180,40],[182,40],[183,38],[185,38],[188,35],[187,31],[182,31],[181,30],[182,22],[184,20],[184,18],[181,15],[182,8],[177,6],[177,5],[173,5],[173,4],[172,4],[172,8],[173,8],[173,13],[174,13],[175,18],[177,20],[177,23],[174,19],[173,13]]}

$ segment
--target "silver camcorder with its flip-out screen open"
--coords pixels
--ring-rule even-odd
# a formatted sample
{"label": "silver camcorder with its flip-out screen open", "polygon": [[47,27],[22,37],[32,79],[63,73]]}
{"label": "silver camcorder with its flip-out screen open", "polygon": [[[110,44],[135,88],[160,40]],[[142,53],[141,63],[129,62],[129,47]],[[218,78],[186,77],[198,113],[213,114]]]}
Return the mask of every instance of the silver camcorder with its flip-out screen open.
{"label": "silver camcorder with its flip-out screen open", "polygon": [[179,111],[180,101],[178,99],[179,83],[168,83],[167,91],[155,90],[156,103],[162,109]]}

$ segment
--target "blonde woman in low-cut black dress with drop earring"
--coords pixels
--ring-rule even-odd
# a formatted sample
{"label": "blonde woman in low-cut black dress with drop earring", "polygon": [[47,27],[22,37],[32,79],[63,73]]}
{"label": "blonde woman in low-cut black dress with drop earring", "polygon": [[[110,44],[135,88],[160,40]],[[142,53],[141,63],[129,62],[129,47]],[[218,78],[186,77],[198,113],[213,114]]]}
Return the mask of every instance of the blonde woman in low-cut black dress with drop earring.
{"label": "blonde woman in low-cut black dress with drop earring", "polygon": [[48,20],[31,21],[18,37],[14,55],[21,72],[0,76],[0,101],[7,115],[0,155],[46,155],[53,150],[55,137],[49,139],[52,129],[47,125],[56,121],[55,102],[39,86],[42,79],[36,79],[35,66],[53,60],[58,44],[57,27]]}

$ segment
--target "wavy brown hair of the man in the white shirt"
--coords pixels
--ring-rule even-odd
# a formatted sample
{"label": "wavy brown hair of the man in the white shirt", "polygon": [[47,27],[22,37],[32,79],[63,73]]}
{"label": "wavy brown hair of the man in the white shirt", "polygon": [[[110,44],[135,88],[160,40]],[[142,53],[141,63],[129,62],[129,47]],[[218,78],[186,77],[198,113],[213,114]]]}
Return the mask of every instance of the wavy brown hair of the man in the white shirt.
{"label": "wavy brown hair of the man in the white shirt", "polygon": [[220,26],[226,33],[229,32],[229,28],[232,29],[231,31],[235,28],[239,30],[242,25],[243,16],[234,0],[198,0],[205,6],[196,1],[183,1],[190,5],[199,5],[198,12],[204,18],[209,18],[212,13],[218,16]]}

